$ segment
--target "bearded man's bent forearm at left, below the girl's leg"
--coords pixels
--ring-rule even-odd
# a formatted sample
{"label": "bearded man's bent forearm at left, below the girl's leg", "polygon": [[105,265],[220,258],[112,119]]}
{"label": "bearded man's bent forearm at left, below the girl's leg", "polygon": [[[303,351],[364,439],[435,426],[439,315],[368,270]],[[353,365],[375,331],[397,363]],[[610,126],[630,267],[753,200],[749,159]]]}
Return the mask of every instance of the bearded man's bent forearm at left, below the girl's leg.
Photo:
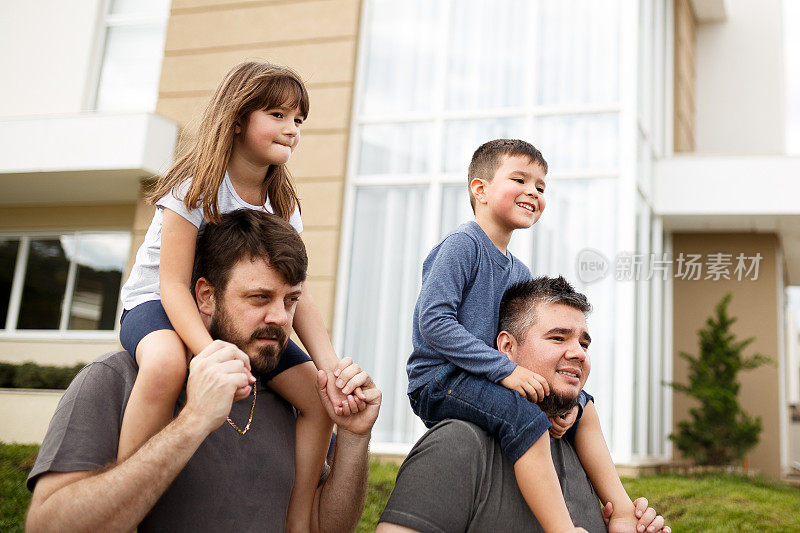
{"label": "bearded man's bent forearm at left, below the girl's leg", "polygon": [[[27,529],[135,529],[207,436],[201,427],[190,414],[182,413],[118,465],[86,472],[80,479],[72,476],[82,472],[46,474],[33,494]],[[64,480],[66,484],[61,484]]]}

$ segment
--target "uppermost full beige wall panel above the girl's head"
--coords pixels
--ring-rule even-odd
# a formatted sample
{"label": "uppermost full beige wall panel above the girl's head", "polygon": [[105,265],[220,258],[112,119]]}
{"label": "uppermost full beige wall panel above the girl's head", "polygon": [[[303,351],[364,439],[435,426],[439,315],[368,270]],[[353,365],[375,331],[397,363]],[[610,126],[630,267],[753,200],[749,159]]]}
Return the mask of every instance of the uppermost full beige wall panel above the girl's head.
{"label": "uppermost full beige wall panel above the girl's head", "polygon": [[357,0],[237,5],[227,10],[173,14],[166,51],[350,37],[357,31]]}

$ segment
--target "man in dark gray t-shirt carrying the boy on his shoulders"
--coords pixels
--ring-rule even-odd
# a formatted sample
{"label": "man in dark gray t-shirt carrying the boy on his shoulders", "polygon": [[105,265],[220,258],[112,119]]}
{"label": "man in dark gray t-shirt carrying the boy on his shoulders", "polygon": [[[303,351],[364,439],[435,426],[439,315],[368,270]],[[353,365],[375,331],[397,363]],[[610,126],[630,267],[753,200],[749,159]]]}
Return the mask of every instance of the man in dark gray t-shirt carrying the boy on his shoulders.
{"label": "man in dark gray t-shirt carrying the boy on his shoulders", "polygon": [[[497,349],[543,376],[550,394],[539,405],[549,416],[574,407],[589,375],[583,294],[562,277],[540,277],[506,291],[500,304]],[[593,403],[588,404],[592,406]],[[581,422],[584,423],[584,422]],[[570,516],[588,531],[669,531],[647,501],[636,502],[638,523],[606,523],[597,493],[570,439],[551,439],[551,455]],[[608,506],[607,506],[608,507]],[[641,531],[645,529],[642,528]],[[514,467],[500,445],[476,425],[445,420],[428,431],[400,467],[379,533],[423,531],[542,531],[520,493]]]}

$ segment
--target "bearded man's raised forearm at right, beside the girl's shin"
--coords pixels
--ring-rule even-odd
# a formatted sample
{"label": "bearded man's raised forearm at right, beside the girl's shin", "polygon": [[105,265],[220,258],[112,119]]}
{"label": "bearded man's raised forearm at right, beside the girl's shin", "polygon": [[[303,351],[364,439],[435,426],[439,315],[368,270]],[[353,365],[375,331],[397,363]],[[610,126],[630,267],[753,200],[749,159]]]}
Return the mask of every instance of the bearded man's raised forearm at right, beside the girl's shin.
{"label": "bearded man's raised forearm at right, beside the girl's shin", "polygon": [[319,533],[355,531],[367,495],[369,435],[340,430],[333,468],[317,492],[312,527]]}

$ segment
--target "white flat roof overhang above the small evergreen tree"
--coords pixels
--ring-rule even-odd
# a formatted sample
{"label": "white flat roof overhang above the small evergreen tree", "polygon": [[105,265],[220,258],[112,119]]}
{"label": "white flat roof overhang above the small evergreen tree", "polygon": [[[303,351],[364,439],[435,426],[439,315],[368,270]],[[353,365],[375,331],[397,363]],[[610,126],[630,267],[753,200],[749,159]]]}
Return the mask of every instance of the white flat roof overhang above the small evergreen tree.
{"label": "white flat roof overhang above the small evergreen tree", "polygon": [[789,283],[800,285],[800,157],[662,159],[653,203],[671,232],[776,233]]}

